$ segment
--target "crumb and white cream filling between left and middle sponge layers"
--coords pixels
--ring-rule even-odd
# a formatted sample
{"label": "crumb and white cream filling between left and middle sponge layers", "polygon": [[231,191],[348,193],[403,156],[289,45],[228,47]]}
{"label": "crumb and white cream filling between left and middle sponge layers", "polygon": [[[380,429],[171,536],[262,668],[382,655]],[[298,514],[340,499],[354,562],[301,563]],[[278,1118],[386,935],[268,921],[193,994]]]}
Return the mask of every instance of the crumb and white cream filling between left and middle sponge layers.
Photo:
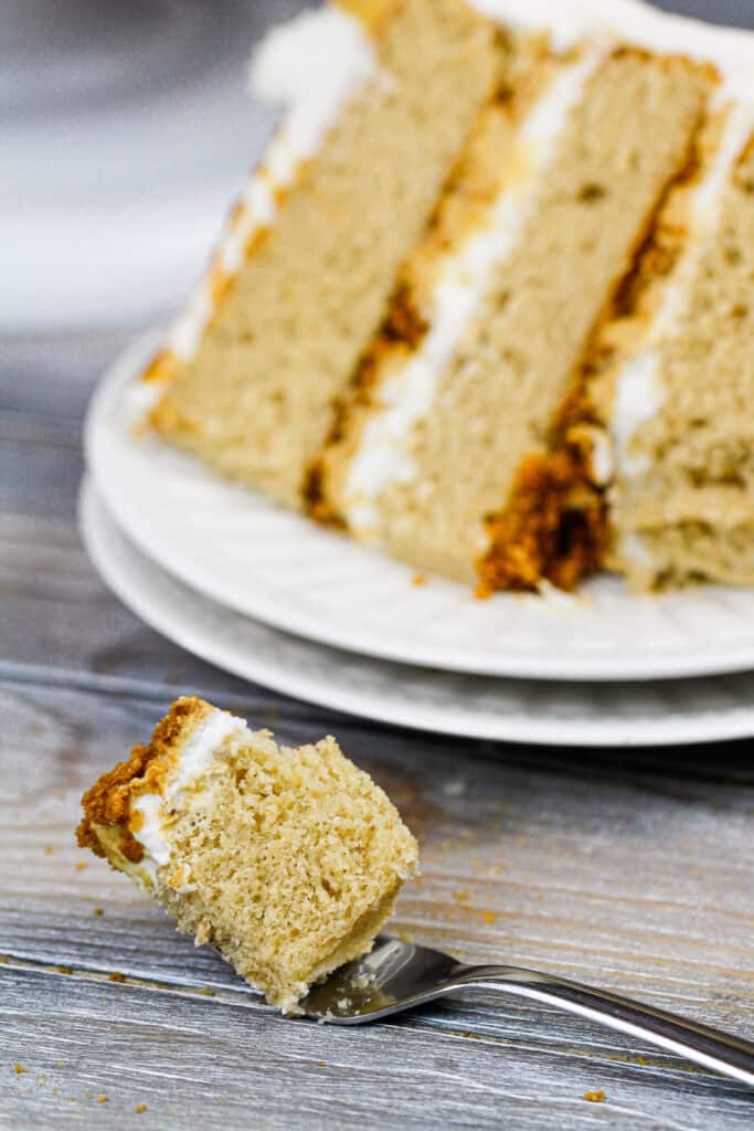
{"label": "crumb and white cream filling between left and middle sponge layers", "polygon": [[318,517],[379,542],[381,497],[413,474],[413,431],[518,238],[560,129],[600,49],[561,60],[540,37],[512,37],[503,84],[480,112],[424,240],[400,273],[361,359],[311,484]]}

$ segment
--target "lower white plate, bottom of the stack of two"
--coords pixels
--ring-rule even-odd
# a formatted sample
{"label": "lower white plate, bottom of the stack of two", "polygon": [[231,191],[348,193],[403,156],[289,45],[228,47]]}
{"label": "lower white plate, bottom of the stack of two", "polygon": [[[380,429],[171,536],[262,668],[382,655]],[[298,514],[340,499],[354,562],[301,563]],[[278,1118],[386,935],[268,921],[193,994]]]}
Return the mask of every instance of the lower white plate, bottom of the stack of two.
{"label": "lower white plate, bottom of the stack of two", "polygon": [[367,659],[278,632],[175,580],[121,533],[86,482],[80,521],[96,568],[148,624],[228,672],[311,702],[469,739],[552,745],[669,745],[754,734],[752,673],[553,684]]}

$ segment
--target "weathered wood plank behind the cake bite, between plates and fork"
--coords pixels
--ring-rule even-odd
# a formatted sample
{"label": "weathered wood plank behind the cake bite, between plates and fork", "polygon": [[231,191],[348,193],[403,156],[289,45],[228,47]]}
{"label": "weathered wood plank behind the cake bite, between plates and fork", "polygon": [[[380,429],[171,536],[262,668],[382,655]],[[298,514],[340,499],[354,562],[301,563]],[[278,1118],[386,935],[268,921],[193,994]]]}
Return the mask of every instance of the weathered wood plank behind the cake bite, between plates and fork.
{"label": "weathered wood plank behind the cake bite, between plates and fork", "polygon": [[[259,708],[224,699],[234,710]],[[162,705],[33,685],[0,687],[0,951],[174,984],[236,985],[211,953],[122,877],[73,845],[78,796],[149,729]],[[311,715],[270,723],[286,741],[321,733]],[[424,877],[397,925],[460,957],[512,960],[597,981],[742,1033],[754,1031],[749,788],[679,782],[621,762],[461,760],[450,740],[338,727],[423,844]],[[19,774],[19,767],[28,769]],[[648,855],[650,853],[651,855]],[[85,863],[83,870],[77,864]],[[95,916],[101,907],[102,916]],[[64,923],[64,930],[61,924]],[[452,1011],[502,1036],[517,1018],[547,1046],[626,1052],[572,1019],[488,1001]]]}

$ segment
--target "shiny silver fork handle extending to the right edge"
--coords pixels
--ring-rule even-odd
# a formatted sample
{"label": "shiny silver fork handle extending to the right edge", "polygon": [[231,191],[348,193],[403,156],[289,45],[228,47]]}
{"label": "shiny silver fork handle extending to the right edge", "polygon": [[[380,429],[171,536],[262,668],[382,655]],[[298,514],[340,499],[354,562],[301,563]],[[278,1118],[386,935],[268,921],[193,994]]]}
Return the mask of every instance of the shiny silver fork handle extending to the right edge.
{"label": "shiny silver fork handle extending to the right edge", "polygon": [[754,1086],[754,1044],[652,1005],[641,1005],[605,990],[512,966],[462,967],[453,982],[459,988],[494,990],[545,1002],[598,1025],[641,1037],[669,1053]]}

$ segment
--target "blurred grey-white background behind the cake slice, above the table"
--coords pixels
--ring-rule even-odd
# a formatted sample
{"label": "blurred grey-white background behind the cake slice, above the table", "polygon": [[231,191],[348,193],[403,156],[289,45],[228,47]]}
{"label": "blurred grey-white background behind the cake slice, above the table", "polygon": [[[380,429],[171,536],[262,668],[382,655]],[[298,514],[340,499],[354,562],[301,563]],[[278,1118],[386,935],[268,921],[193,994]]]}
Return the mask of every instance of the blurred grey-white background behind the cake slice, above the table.
{"label": "blurred grey-white background behind the cake slice, above the table", "polygon": [[[754,26],[752,0],[659,6]],[[0,335],[125,329],[175,309],[271,126],[245,89],[252,44],[303,7],[2,0]]]}

